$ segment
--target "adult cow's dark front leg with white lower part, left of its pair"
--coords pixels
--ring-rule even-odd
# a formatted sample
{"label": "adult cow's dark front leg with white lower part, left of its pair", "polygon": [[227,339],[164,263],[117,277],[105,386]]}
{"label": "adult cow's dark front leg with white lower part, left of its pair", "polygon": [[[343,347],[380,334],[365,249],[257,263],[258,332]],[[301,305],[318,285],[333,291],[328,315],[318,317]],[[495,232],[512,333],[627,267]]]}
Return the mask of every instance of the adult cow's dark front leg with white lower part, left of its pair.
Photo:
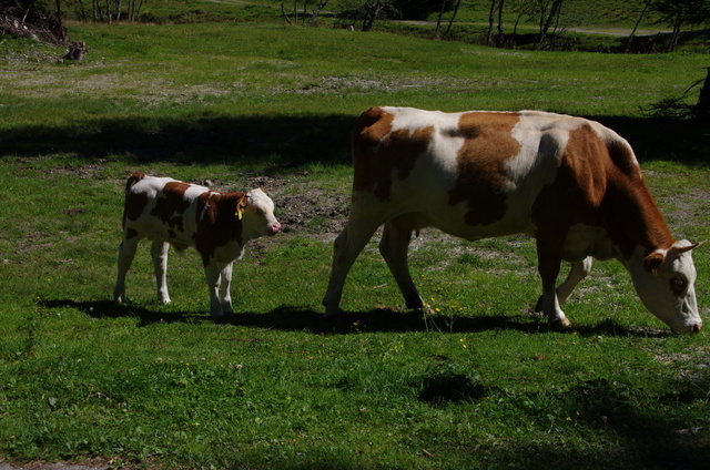
{"label": "adult cow's dark front leg with white lower part, left of its pair", "polygon": [[558,244],[555,239],[541,241],[538,236],[538,272],[540,273],[540,278],[542,280],[541,307],[545,315],[547,315],[550,326],[556,328],[569,328],[571,327],[571,323],[569,323],[565,313],[559,307],[557,290],[555,289],[559,268],[562,263],[559,246],[561,246],[561,244]]}

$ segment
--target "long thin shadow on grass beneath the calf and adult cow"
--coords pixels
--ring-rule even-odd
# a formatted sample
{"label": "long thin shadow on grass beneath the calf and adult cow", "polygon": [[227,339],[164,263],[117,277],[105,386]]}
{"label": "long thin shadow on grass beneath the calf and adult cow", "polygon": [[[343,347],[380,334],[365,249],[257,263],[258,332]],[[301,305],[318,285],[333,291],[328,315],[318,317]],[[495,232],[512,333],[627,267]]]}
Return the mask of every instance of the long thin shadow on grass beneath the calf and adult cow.
{"label": "long thin shadow on grass beneath the calf and adult cow", "polygon": [[630,328],[613,319],[606,319],[592,326],[572,326],[559,331],[551,328],[541,315],[521,313],[518,315],[428,315],[417,310],[375,308],[366,311],[344,311],[336,318],[326,319],[322,311],[305,306],[280,306],[266,313],[240,311],[214,321],[206,311],[166,311],[159,307],[134,303],[115,304],[111,300],[41,300],[44,309],[75,308],[92,318],[134,317],[139,327],[154,324],[207,324],[232,325],[281,331],[302,331],[313,335],[354,335],[363,333],[440,333],[473,334],[484,331],[501,333],[516,330],[526,334],[576,334],[582,337],[668,337],[662,329]]}

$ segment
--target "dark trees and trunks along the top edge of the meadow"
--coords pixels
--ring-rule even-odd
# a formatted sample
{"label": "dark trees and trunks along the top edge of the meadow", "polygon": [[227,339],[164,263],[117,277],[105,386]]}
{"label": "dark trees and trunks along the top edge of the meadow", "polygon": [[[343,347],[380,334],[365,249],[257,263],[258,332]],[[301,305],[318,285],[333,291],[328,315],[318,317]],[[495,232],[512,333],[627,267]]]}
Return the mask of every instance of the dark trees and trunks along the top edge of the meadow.
{"label": "dark trees and trunks along the top edge of the meadow", "polygon": [[[273,0],[292,25],[317,25],[327,11],[336,27],[369,31],[377,21],[417,20],[435,23],[434,38],[460,40],[460,31],[471,25],[456,21],[462,9],[487,14],[487,29],[478,25],[474,41],[490,47],[531,47],[547,50],[575,49],[575,28],[605,24],[604,14],[621,16],[635,23],[618,52],[671,52],[689,28],[704,27],[710,20],[710,0],[637,0],[611,3],[613,11],[600,9],[589,0]],[[26,34],[28,27],[65,42],[63,18],[81,21],[155,21],[142,13],[144,0],[0,0],[0,32]],[[601,11],[599,11],[601,10]],[[195,10],[195,12],[199,10]],[[195,13],[193,12],[193,13]],[[196,13],[195,13],[196,14]],[[172,18],[172,17],[171,17]],[[181,16],[175,17],[180,21]],[[526,24],[525,32],[519,25]],[[536,25],[531,32],[529,25]],[[655,24],[669,32],[655,37],[637,34],[639,24]]]}

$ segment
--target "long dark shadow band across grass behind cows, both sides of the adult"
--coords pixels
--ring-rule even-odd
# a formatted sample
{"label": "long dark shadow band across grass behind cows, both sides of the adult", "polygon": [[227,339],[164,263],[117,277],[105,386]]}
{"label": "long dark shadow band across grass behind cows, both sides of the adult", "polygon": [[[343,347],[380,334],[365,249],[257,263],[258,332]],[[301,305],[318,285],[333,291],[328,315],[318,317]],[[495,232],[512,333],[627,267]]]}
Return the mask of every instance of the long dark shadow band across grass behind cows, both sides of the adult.
{"label": "long dark shadow band across grass behind cows, both sides of the adult", "polygon": [[[6,130],[0,135],[0,156],[59,153],[94,161],[123,155],[136,164],[239,163],[264,172],[283,172],[307,163],[349,163],[349,134],[355,117],[336,113],[102,117],[63,126]],[[651,117],[590,119],[626,137],[641,161],[710,164],[710,129],[704,123]]]}

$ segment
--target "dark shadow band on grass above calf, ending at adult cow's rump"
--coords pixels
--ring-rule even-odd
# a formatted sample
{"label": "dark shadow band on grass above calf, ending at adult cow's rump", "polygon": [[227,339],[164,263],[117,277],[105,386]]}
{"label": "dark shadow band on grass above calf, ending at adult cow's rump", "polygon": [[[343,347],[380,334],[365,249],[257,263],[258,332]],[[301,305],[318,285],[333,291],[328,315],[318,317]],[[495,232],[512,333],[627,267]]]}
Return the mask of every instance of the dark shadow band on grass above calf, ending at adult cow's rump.
{"label": "dark shadow band on grass above calf, ending at adult cow's rump", "polygon": [[343,114],[98,119],[3,131],[0,155],[65,153],[88,161],[123,155],[138,164],[241,163],[284,171],[305,163],[348,163],[354,120]]}

